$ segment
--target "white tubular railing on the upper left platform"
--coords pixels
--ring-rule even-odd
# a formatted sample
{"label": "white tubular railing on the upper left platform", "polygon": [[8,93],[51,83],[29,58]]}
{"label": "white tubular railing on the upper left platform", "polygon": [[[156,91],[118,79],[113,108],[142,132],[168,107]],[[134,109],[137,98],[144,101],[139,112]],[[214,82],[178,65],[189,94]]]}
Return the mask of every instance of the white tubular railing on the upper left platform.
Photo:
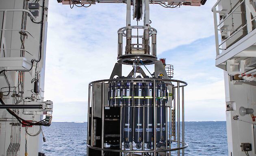
{"label": "white tubular railing on the upper left platform", "polygon": [[33,56],[31,53],[28,52],[28,50],[25,49],[15,49],[15,48],[5,48],[5,32],[6,31],[18,31],[18,32],[26,32],[27,34],[29,34],[32,38],[35,38],[30,32],[28,32],[27,30],[17,30],[17,29],[6,29],[6,20],[7,20],[7,12],[11,11],[11,12],[25,12],[28,13],[28,15],[35,20],[35,22],[37,22],[35,16],[28,10],[26,9],[0,9],[0,12],[3,12],[3,20],[2,20],[2,29],[1,31],[1,40],[0,40],[0,55],[3,54],[3,56],[5,57],[5,51],[10,50],[10,51],[23,51],[26,52],[28,54],[30,54],[31,56]]}

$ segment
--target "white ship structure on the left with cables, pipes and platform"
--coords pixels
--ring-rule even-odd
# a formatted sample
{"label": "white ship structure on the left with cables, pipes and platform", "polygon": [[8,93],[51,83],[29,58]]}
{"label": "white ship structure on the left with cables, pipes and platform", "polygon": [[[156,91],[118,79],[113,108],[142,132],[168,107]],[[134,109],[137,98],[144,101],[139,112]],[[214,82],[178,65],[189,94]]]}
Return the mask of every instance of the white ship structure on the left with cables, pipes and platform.
{"label": "white ship structure on the left with cables, pipes and platform", "polygon": [[43,156],[48,0],[0,0],[0,155]]}

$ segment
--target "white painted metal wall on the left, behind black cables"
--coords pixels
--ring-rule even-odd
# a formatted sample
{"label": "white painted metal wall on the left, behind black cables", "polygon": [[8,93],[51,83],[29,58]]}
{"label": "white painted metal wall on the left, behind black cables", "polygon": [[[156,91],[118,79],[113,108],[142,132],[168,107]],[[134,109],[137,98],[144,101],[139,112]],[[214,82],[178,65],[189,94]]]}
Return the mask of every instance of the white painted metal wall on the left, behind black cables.
{"label": "white painted metal wall on the left, behind black cables", "polygon": [[[40,104],[43,103],[44,100],[44,73],[45,73],[45,55],[46,55],[46,34],[47,34],[47,15],[48,15],[48,0],[39,0],[40,4],[39,16],[34,19],[35,22],[41,21],[42,12],[44,9],[44,17],[43,17],[43,27],[41,29],[40,23],[33,23],[30,20],[30,17],[26,13],[26,29],[21,31],[22,25],[22,13],[24,9],[23,5],[25,3],[35,2],[35,0],[0,0],[0,71],[7,70],[5,72],[7,79],[10,83],[11,93],[8,96],[3,96],[2,99],[6,104],[15,104],[15,98],[11,97],[13,95],[13,91],[16,91],[17,95],[21,97],[16,97],[21,100],[19,104]],[[44,2],[44,4],[43,4]],[[44,8],[42,7],[44,5]],[[31,15],[30,15],[31,16]],[[5,18],[6,17],[6,18]],[[25,21],[23,21],[24,24]],[[42,36],[41,36],[42,31]],[[22,42],[20,40],[21,34],[19,32],[26,32],[27,36],[24,40],[24,56],[20,55],[20,50],[22,46]],[[42,42],[41,38],[42,37]],[[19,72],[16,71],[8,71],[8,70],[29,70],[31,68],[31,60],[39,60],[40,55],[40,42],[41,42],[41,60],[36,63],[33,63],[33,67],[30,72],[23,72],[22,75],[22,86],[19,85],[18,77]],[[30,53],[30,54],[29,54]],[[36,67],[37,66],[37,67]],[[39,75],[39,84],[40,84],[40,92],[35,95],[33,93],[34,84],[31,83],[31,80],[35,78],[35,74],[37,70],[37,74]],[[21,76],[20,76],[21,78]],[[22,93],[17,89],[17,86],[23,88]],[[4,77],[4,72],[0,74],[0,88],[8,87],[8,84]],[[15,87],[15,88],[13,88]],[[8,88],[2,88],[2,92],[4,95],[8,93]],[[33,96],[31,96],[33,94]],[[31,102],[24,102],[26,97],[31,98]],[[25,120],[35,120],[39,121],[43,119],[43,111],[42,110],[25,110],[25,109],[16,109],[19,111],[19,116]],[[30,112],[33,111],[33,112]],[[45,113],[45,112],[44,112]],[[41,152],[42,148],[42,135],[41,133],[37,136],[29,136],[26,135],[25,127],[22,126],[12,126],[10,123],[15,120],[11,114],[7,112],[5,109],[0,109],[0,156],[11,155],[8,154],[8,148],[11,143],[11,138],[15,138],[16,134],[19,135],[20,139],[17,137],[16,142],[20,143],[20,148],[17,149],[17,155],[25,154],[25,143],[27,140],[27,154],[30,156],[37,156],[38,152]],[[17,122],[17,121],[16,121]],[[11,130],[13,129],[13,130]],[[39,131],[39,126],[28,127],[28,133],[35,134]],[[27,139],[26,139],[27,137]],[[15,153],[15,152],[14,152]],[[16,155],[16,154],[13,154]],[[26,155],[26,154],[25,154]]]}

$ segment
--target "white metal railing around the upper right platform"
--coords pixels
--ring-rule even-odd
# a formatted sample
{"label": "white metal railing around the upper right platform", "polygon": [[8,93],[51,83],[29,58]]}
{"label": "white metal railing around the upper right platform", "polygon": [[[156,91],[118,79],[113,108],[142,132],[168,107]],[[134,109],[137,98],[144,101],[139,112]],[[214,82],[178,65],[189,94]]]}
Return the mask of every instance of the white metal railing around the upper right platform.
{"label": "white metal railing around the upper right platform", "polygon": [[[236,6],[231,8],[230,11],[217,11],[216,7],[217,7],[217,5],[219,5],[219,3],[221,1],[222,0],[218,0],[212,8],[213,19],[214,19],[214,28],[215,28],[216,55],[220,54],[220,50],[225,51],[227,49],[227,48],[220,48],[220,46],[223,45],[224,43],[226,43],[228,40],[230,40],[230,38],[232,38],[238,32],[247,32],[247,34],[249,34],[249,32],[251,32],[254,29],[252,27],[252,21],[256,20],[256,15],[254,16],[254,18],[251,18],[251,13],[252,13],[252,15],[254,15],[253,12],[255,12],[255,8],[253,8],[253,6],[250,4],[250,0],[242,0],[241,2],[236,4]],[[245,8],[246,8],[245,12],[236,11],[237,8],[239,8],[243,3],[245,4]],[[253,11],[251,11],[251,10],[253,10]],[[246,14],[246,21],[247,22],[244,25],[237,28],[236,30],[219,29],[219,26],[224,21],[226,21],[232,14],[242,14],[242,13]],[[217,22],[217,14],[226,14],[226,16],[224,16],[222,19],[220,19],[219,23],[218,23]],[[243,30],[243,28],[245,28],[245,27],[247,27],[247,30]],[[219,31],[220,32],[221,31],[223,31],[223,32],[233,32],[233,33],[230,34],[230,36],[226,37],[224,40],[222,40],[221,43],[219,44]]]}

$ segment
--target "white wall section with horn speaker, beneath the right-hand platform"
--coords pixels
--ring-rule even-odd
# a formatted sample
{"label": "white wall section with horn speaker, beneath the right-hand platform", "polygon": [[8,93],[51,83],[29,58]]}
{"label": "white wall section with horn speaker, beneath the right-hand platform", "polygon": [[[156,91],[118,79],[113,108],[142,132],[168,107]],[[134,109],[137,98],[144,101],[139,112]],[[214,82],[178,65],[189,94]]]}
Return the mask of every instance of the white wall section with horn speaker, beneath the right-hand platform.
{"label": "white wall section with horn speaker, beneath the right-hand platform", "polygon": [[[230,81],[228,72],[224,72],[226,103],[232,103],[232,109],[226,111],[227,136],[228,136],[228,154],[229,156],[245,156],[241,151],[241,143],[252,143],[252,151],[248,152],[250,156],[256,156],[254,142],[253,124],[234,120],[233,117],[239,115],[239,108],[253,108],[256,110],[256,87],[241,82]],[[252,122],[250,115],[240,116],[239,119]],[[232,155],[231,155],[232,153]]]}

